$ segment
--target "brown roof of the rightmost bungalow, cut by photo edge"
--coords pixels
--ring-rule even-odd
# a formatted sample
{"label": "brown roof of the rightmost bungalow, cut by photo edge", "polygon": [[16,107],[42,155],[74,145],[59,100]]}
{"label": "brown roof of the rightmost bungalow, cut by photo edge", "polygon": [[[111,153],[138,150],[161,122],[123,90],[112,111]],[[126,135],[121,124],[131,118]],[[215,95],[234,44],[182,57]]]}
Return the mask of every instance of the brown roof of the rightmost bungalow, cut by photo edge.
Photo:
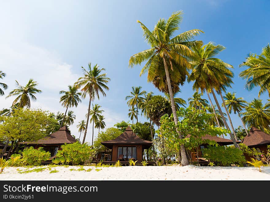
{"label": "brown roof of the rightmost bungalow, cut by photo edge", "polygon": [[247,146],[270,144],[270,135],[252,126],[249,134],[241,141]]}

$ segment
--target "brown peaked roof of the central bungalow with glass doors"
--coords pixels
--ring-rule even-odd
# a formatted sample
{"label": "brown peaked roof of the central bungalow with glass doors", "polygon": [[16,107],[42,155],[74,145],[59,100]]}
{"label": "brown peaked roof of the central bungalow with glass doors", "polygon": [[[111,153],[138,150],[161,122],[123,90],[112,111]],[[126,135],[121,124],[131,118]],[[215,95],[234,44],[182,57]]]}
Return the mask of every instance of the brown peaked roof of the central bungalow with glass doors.
{"label": "brown peaked roof of the central bungalow with glass doors", "polygon": [[111,148],[112,145],[145,145],[149,148],[153,143],[138,137],[135,133],[133,133],[130,126],[128,126],[124,133],[113,140],[101,142],[101,144],[108,148]]}

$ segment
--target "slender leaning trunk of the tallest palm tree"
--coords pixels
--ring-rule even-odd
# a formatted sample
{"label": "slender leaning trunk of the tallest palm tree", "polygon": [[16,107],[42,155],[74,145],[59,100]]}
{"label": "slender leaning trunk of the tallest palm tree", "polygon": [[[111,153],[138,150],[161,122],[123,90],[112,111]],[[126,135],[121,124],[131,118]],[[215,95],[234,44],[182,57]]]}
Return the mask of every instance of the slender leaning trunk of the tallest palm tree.
{"label": "slender leaning trunk of the tallest palm tree", "polygon": [[[170,79],[170,76],[169,76],[169,70],[168,70],[167,62],[165,60],[165,56],[163,56],[163,62],[164,62],[164,69],[165,69],[165,73],[166,73],[166,79],[167,79],[167,84],[168,84],[169,95],[170,95],[170,99],[171,99],[172,114],[173,114],[173,119],[174,119],[174,123],[175,123],[176,132],[178,133],[178,138],[183,139],[182,135],[181,135],[181,131],[179,131],[177,129],[178,118],[177,118],[176,109],[175,109],[175,103],[174,103],[174,99],[173,99],[171,79]],[[186,154],[186,150],[185,150],[185,147],[184,147],[183,144],[180,145],[180,152],[181,152],[181,165],[182,166],[188,165],[187,154]]]}

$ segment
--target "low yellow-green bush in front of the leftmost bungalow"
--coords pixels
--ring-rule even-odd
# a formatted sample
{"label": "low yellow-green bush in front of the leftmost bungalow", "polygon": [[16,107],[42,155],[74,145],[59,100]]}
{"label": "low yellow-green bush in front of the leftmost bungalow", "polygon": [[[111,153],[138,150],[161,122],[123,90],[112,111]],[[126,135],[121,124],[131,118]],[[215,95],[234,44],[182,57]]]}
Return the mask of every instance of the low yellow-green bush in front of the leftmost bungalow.
{"label": "low yellow-green bush in front of the leftmost bungalow", "polygon": [[29,147],[22,151],[22,160],[24,165],[38,166],[41,165],[42,161],[49,160],[50,157],[51,153],[44,151],[43,147],[39,147],[38,149]]}

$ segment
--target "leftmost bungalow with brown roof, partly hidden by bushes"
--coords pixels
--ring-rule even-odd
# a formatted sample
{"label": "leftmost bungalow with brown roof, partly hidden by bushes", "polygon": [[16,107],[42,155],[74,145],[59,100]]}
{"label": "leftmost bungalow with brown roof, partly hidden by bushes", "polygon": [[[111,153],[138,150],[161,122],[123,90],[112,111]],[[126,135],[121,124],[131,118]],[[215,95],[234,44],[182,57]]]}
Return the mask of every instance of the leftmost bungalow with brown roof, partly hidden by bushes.
{"label": "leftmost bungalow with brown roof, partly hidden by bushes", "polygon": [[20,142],[20,145],[33,146],[35,149],[43,147],[45,151],[50,152],[54,157],[58,150],[61,150],[61,145],[65,143],[71,144],[76,142],[75,138],[70,134],[67,126],[63,126],[55,133],[50,134],[47,137],[43,137],[37,141]]}

